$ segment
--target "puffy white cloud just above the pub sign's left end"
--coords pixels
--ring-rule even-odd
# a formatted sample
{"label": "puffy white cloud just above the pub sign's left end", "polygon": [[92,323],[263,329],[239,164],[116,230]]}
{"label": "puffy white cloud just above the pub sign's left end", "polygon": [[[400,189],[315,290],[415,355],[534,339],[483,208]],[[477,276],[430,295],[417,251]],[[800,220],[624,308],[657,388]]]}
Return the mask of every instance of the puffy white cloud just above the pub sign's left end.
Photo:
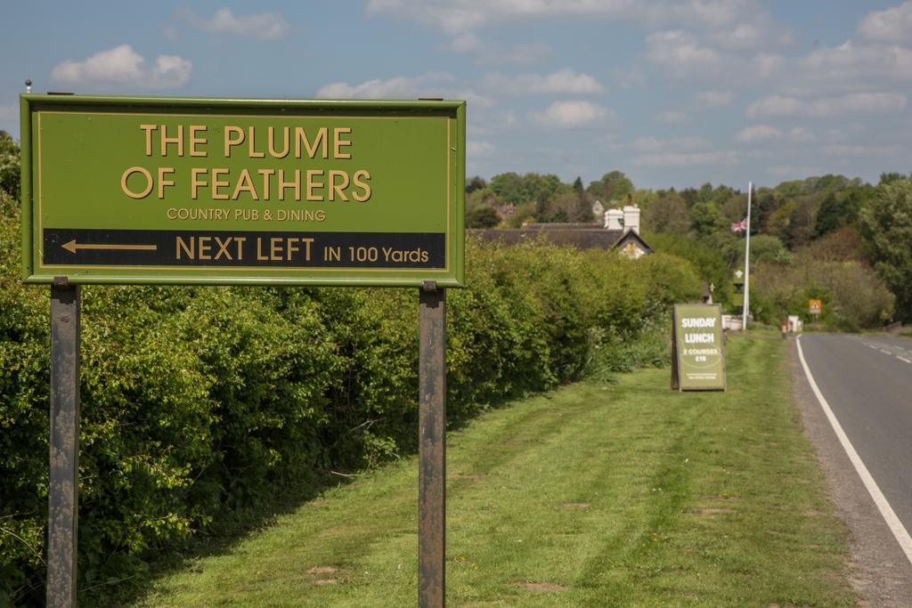
{"label": "puffy white cloud just above the pub sign's left end", "polygon": [[100,51],[85,61],[67,59],[51,70],[51,79],[63,85],[124,85],[138,88],[180,88],[190,80],[192,63],[160,55],[151,67],[130,45]]}

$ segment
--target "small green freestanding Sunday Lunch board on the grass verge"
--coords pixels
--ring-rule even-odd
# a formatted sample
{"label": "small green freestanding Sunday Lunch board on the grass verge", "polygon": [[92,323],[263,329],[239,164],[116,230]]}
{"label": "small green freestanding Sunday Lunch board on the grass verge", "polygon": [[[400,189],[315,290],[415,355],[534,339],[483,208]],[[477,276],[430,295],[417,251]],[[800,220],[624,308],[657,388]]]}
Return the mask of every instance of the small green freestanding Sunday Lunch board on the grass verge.
{"label": "small green freestanding Sunday Lunch board on the grass verge", "polygon": [[725,390],[719,304],[675,304],[671,387]]}

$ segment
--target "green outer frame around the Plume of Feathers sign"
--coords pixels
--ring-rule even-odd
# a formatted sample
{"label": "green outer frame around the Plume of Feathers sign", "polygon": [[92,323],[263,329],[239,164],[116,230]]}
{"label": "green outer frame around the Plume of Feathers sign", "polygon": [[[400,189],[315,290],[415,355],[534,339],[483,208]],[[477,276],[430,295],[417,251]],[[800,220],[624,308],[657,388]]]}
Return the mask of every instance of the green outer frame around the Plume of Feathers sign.
{"label": "green outer frame around the Plume of Feathers sign", "polygon": [[[199,284],[199,285],[323,285],[323,286],[395,286],[420,287],[426,282],[436,283],[440,288],[461,287],[465,285],[465,101],[461,100],[326,100],[326,99],[249,99],[249,98],[159,98],[159,97],[115,97],[84,96],[55,94],[25,94],[20,96],[21,108],[21,149],[22,149],[22,280],[24,283],[53,283],[56,276],[66,276],[69,284]],[[213,117],[231,117],[241,122],[255,118],[270,118],[276,121],[283,119],[363,119],[365,117],[382,117],[409,121],[415,119],[445,119],[446,121],[446,209],[440,206],[440,221],[435,221],[431,231],[420,232],[430,235],[440,242],[443,235],[443,252],[445,264],[431,260],[424,267],[420,264],[388,264],[383,267],[336,265],[330,268],[316,268],[310,265],[298,265],[267,268],[265,264],[235,265],[202,265],[192,267],[161,265],[137,265],[125,263],[106,267],[95,263],[79,266],[76,264],[44,264],[42,238],[47,236],[38,233],[43,218],[37,211],[36,198],[40,201],[41,182],[40,166],[36,167],[36,155],[40,155],[40,133],[36,129],[33,115],[40,112],[77,113],[88,112],[98,115],[123,115],[148,113],[155,116],[168,115],[169,119],[186,118],[189,115]],[[247,124],[247,123],[244,123]],[[281,122],[278,122],[281,124]],[[412,124],[415,124],[414,122]],[[253,129],[253,127],[251,127]],[[36,133],[39,130],[39,133]],[[387,129],[395,132],[393,129]],[[381,131],[382,132],[382,131]],[[442,143],[442,140],[441,140]],[[181,144],[182,145],[182,144]],[[164,148],[164,144],[162,144]],[[440,158],[443,158],[442,156]],[[40,165],[40,163],[37,163]],[[119,172],[122,168],[118,168]],[[37,170],[37,172],[36,172]],[[417,170],[420,167],[409,168]],[[440,170],[442,172],[442,170]],[[47,175],[44,176],[47,182]],[[438,184],[437,181],[433,182]],[[441,191],[442,191],[442,184]],[[57,186],[59,190],[59,186]],[[402,190],[402,188],[399,188]],[[399,193],[387,192],[393,198]],[[107,204],[107,203],[105,203]],[[205,201],[201,201],[204,205]],[[390,211],[395,222],[396,210]],[[401,214],[401,212],[400,212]],[[47,215],[47,213],[45,213]],[[442,218],[445,216],[445,228]],[[436,216],[435,216],[436,217]],[[36,223],[38,226],[36,226]],[[386,224],[386,222],[384,222]],[[436,226],[440,225],[440,230]],[[134,228],[125,226],[126,232]],[[141,227],[140,227],[141,228]],[[66,229],[63,229],[66,230]],[[91,229],[86,229],[91,230]],[[191,229],[192,230],[192,229]],[[273,233],[275,227],[264,228],[263,232]],[[273,232],[269,232],[273,231]],[[117,232],[112,230],[111,232]],[[167,231],[149,231],[167,232]],[[210,231],[213,232],[213,231]],[[235,228],[233,232],[260,232]],[[280,231],[281,232],[281,231]],[[288,229],[287,234],[361,234],[358,230],[350,232],[311,230],[306,228]],[[414,229],[402,232],[388,230],[371,233],[380,236],[398,235],[405,238],[419,235]],[[404,235],[404,236],[403,236]],[[68,236],[62,236],[61,245],[71,245]],[[353,237],[355,238],[355,237]],[[47,245],[46,245],[47,246]],[[91,245],[89,245],[91,246]],[[80,250],[82,245],[75,245]],[[64,247],[67,251],[73,249]],[[94,252],[91,252],[94,253]],[[290,255],[290,253],[289,253]],[[202,256],[201,256],[202,257]],[[248,256],[247,259],[250,259]],[[275,258],[274,258],[275,259]],[[388,258],[389,259],[389,258]],[[97,269],[97,270],[96,270]],[[180,269],[180,270],[179,270]]]}

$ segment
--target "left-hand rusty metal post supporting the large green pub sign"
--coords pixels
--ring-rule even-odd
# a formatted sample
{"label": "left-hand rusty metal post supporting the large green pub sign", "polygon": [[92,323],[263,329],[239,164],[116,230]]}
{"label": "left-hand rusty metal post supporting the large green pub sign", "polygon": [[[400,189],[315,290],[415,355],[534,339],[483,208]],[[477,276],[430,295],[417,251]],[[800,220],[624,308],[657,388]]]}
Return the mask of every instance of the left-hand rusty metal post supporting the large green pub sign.
{"label": "left-hand rusty metal post supporting the large green pub sign", "polygon": [[79,467],[79,287],[51,285],[51,437],[47,606],[76,606]]}

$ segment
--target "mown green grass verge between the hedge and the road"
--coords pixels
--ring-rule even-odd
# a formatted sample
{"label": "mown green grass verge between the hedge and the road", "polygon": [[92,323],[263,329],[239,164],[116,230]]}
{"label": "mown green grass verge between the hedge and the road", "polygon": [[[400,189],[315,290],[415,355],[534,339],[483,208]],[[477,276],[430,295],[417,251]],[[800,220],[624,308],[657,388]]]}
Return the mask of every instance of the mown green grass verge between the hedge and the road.
{"label": "mown green grass verge between the hedge and the road", "polygon": [[[727,356],[726,393],[642,370],[452,433],[448,603],[855,605],[784,343],[733,338]],[[416,477],[404,459],[327,491],[139,605],[413,605]]]}

